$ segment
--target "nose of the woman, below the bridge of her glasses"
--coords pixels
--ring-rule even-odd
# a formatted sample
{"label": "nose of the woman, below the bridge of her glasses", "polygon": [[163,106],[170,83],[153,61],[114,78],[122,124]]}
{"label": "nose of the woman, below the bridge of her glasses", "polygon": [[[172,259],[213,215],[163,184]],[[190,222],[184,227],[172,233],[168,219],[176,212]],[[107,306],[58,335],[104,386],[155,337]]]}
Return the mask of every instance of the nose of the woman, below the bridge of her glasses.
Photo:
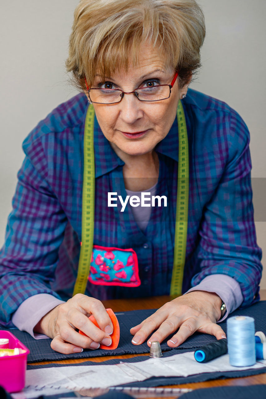
{"label": "nose of the woman, below the bridge of her glasses", "polygon": [[143,117],[142,103],[135,93],[124,94],[119,103],[120,117],[125,123],[133,124],[137,119]]}

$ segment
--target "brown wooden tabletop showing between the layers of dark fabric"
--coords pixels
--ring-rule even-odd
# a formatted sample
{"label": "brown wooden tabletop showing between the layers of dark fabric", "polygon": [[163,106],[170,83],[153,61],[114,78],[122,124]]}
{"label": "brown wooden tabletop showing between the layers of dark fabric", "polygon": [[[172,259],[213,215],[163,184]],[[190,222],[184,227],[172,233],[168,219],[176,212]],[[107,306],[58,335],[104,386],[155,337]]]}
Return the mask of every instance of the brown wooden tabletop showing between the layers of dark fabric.
{"label": "brown wooden tabletop showing between the layers of dark fabric", "polygon": [[[260,291],[261,300],[266,300],[266,290]],[[137,310],[137,309],[155,309],[159,308],[166,302],[171,300],[170,296],[155,296],[151,298],[137,298],[137,299],[114,299],[103,301],[105,308],[111,308],[114,312],[125,312],[127,310]],[[148,347],[147,347],[148,348]],[[60,363],[60,364],[75,364],[82,363],[83,361],[94,361],[101,362],[109,359],[127,359],[133,358],[135,356],[147,356],[148,352],[145,354],[131,354],[131,355],[119,355],[119,356],[101,356],[98,358],[83,358],[83,359],[67,359],[60,361],[41,361],[30,364],[48,364],[48,363]],[[251,375],[250,377],[241,378],[228,378],[228,379],[216,379],[211,381],[181,384],[181,385],[167,385],[167,387],[178,387],[178,388],[208,388],[217,387],[225,385],[255,385],[255,384],[266,384],[266,373]],[[158,398],[157,398],[158,399]],[[167,398],[165,398],[167,399]]]}

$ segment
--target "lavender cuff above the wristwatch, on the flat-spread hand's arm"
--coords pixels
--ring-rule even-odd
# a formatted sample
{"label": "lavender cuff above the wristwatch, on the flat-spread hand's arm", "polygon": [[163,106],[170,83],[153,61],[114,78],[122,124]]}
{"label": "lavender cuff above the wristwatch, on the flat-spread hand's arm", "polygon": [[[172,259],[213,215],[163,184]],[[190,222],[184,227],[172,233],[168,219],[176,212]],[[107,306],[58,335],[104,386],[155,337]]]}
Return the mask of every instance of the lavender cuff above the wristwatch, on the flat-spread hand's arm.
{"label": "lavender cuff above the wristwatch, on the flat-spread hand's arm", "polygon": [[239,283],[232,277],[224,274],[207,276],[198,285],[190,288],[185,293],[187,294],[192,291],[214,292],[220,296],[221,300],[225,303],[226,312],[218,322],[225,320],[228,314],[236,310],[243,302]]}

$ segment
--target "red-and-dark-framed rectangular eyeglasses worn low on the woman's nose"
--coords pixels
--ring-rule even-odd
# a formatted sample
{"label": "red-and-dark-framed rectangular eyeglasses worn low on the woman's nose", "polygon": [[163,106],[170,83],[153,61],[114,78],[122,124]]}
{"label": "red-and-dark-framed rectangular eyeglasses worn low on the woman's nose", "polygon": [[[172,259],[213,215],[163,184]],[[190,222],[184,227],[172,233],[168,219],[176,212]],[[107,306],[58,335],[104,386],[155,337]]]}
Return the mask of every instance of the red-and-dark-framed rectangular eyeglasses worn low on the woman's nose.
{"label": "red-and-dark-framed rectangular eyeglasses worn low on the woman's nose", "polygon": [[89,88],[87,85],[87,81],[85,78],[85,83],[89,95],[89,99],[91,103],[95,104],[117,104],[123,99],[125,94],[135,94],[139,101],[161,101],[169,99],[171,94],[171,89],[177,79],[178,72],[175,73],[175,76],[170,85],[156,85],[155,82],[153,86],[148,87],[138,87],[133,91],[126,91],[120,89],[97,89],[95,87]]}

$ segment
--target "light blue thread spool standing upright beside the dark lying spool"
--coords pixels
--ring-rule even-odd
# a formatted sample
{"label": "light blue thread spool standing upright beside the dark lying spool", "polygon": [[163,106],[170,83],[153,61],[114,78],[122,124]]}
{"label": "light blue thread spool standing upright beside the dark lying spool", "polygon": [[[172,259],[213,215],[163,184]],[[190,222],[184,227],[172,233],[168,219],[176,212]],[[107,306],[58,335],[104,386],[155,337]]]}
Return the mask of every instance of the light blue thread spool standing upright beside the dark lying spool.
{"label": "light blue thread spool standing upright beside the dark lying spool", "polygon": [[227,320],[229,362],[246,367],[256,363],[254,318],[234,316]]}

